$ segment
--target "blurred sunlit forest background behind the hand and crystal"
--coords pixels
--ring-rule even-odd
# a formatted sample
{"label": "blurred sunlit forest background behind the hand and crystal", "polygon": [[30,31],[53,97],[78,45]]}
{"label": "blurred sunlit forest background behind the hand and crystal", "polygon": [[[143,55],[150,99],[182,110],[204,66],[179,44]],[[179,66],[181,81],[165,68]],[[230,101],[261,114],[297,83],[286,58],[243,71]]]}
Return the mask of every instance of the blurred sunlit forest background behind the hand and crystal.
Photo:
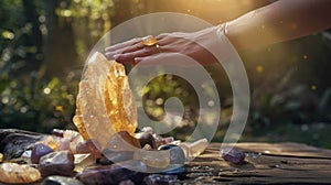
{"label": "blurred sunlit forest background behind the hand and crystal", "polygon": [[[111,28],[140,14],[181,12],[218,24],[269,3],[267,0],[1,0],[0,128],[50,132],[74,129],[77,85],[90,48]],[[331,149],[331,32],[242,51],[252,91],[242,141],[295,141]],[[221,95],[222,141],[232,116],[231,87],[218,66],[209,66]],[[161,87],[167,88],[161,88]],[[150,81],[143,105],[158,119],[163,102],[185,105],[178,138],[196,121],[195,95],[185,80]]]}

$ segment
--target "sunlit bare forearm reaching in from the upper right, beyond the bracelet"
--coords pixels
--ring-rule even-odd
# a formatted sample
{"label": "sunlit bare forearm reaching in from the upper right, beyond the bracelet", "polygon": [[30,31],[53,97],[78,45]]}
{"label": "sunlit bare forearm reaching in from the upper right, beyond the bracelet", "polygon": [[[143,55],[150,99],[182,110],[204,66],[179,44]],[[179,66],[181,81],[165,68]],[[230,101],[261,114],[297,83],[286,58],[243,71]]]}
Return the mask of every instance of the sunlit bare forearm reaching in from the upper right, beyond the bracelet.
{"label": "sunlit bare forearm reaching in from the upper right, beyond the bracelet", "polygon": [[331,0],[279,0],[227,23],[237,50],[288,41],[331,26]]}

